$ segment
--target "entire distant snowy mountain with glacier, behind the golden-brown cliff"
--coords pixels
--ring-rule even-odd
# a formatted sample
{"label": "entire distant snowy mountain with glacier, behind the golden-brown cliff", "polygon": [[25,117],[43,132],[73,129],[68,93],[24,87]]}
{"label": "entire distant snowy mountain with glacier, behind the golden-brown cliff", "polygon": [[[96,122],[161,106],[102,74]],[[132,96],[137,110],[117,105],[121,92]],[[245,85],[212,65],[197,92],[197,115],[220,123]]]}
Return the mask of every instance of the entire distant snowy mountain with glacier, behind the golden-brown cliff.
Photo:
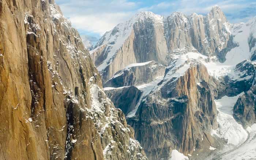
{"label": "entire distant snowy mountain with glacier, behind the golden-brown cliff", "polygon": [[218,6],[205,16],[140,12],[90,51],[148,159],[253,157],[255,24],[231,24]]}

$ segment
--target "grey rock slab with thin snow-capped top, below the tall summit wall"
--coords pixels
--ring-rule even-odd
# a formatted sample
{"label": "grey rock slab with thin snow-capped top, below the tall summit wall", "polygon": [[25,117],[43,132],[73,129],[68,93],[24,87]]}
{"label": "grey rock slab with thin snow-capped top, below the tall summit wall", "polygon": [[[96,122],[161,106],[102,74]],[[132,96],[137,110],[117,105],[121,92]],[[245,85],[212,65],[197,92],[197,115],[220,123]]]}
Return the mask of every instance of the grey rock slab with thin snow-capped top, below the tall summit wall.
{"label": "grey rock slab with thin snow-capped top, below the tall summit wall", "polygon": [[103,84],[104,87],[123,87],[141,85],[154,81],[165,74],[165,66],[155,61],[128,65],[118,71],[110,80]]}

